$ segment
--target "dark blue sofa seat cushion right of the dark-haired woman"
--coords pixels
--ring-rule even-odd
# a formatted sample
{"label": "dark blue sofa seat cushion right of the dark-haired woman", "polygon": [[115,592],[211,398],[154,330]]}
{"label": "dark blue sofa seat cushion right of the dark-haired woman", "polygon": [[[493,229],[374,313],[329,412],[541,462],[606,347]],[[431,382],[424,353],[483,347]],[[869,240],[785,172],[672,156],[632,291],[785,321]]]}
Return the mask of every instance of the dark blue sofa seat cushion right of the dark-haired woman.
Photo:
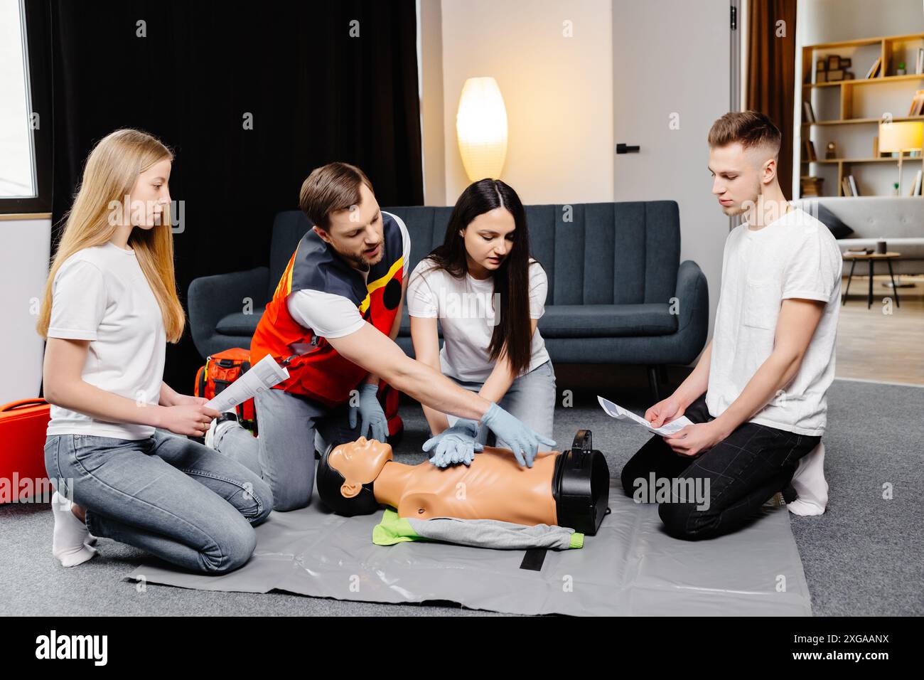
{"label": "dark blue sofa seat cushion right of the dark-haired woman", "polygon": [[670,335],[677,315],[667,303],[552,304],[539,320],[543,338],[621,338]]}

